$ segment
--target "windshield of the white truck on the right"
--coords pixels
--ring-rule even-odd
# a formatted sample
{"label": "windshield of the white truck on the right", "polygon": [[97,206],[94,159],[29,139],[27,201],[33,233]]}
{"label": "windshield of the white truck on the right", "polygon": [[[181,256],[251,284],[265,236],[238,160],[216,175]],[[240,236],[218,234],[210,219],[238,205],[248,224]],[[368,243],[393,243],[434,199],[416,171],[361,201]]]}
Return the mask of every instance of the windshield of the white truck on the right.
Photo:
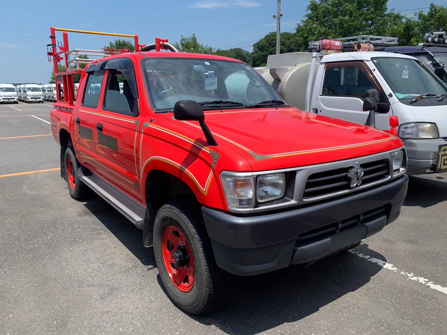
{"label": "windshield of the white truck on the right", "polygon": [[416,59],[375,57],[371,60],[399,100],[447,93],[447,88],[434,73]]}

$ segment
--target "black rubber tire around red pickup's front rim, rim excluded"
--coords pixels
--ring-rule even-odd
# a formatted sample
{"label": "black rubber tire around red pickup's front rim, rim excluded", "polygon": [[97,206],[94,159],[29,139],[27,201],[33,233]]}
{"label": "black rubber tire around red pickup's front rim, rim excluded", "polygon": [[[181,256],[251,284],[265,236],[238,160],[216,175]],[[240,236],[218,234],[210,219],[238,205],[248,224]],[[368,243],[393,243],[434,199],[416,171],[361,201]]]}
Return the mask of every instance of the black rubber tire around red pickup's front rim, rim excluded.
{"label": "black rubber tire around red pickup's front rim, rim excluded", "polygon": [[[161,281],[171,300],[191,314],[203,314],[215,308],[217,302],[222,302],[223,285],[228,284],[225,272],[215,263],[211,242],[202,222],[198,205],[186,199],[176,199],[163,205],[154,222],[154,253]],[[164,261],[162,239],[164,231],[172,226],[186,236],[194,257],[195,279],[189,292],[177,288]]]}

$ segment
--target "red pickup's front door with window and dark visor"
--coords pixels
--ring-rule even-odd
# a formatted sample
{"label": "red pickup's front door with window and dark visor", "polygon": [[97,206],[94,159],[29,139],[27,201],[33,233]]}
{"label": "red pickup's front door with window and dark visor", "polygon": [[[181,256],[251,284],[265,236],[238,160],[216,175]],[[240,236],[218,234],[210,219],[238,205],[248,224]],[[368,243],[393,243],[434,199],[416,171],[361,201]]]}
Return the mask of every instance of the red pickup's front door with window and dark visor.
{"label": "red pickup's front door with window and dark visor", "polygon": [[143,120],[134,57],[109,60],[101,113],[96,118],[98,171],[134,197],[139,189],[137,128]]}

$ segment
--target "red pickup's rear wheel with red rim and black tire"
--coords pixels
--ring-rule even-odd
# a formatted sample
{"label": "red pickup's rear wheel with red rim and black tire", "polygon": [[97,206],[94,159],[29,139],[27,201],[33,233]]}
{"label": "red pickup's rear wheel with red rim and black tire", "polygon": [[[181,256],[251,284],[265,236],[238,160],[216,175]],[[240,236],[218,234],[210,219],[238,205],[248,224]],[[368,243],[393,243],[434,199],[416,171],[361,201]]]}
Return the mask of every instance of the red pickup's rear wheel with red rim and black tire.
{"label": "red pickup's rear wheel with red rim and black tire", "polygon": [[76,200],[84,199],[89,195],[89,187],[79,178],[78,170],[81,167],[75,155],[75,150],[72,146],[67,147],[65,151],[65,179],[68,184],[68,192],[71,197]]}

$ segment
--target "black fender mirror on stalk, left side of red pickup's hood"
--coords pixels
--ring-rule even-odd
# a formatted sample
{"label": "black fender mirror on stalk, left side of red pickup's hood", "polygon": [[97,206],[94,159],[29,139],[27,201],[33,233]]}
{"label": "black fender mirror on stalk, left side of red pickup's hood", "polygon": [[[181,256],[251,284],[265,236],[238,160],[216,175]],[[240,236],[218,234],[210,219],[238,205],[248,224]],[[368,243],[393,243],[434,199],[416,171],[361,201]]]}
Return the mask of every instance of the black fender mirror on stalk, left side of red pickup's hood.
{"label": "black fender mirror on stalk, left side of red pickup's hood", "polygon": [[205,123],[205,114],[202,107],[194,100],[180,100],[174,105],[174,117],[180,121],[198,121],[208,145],[217,146],[217,142]]}

